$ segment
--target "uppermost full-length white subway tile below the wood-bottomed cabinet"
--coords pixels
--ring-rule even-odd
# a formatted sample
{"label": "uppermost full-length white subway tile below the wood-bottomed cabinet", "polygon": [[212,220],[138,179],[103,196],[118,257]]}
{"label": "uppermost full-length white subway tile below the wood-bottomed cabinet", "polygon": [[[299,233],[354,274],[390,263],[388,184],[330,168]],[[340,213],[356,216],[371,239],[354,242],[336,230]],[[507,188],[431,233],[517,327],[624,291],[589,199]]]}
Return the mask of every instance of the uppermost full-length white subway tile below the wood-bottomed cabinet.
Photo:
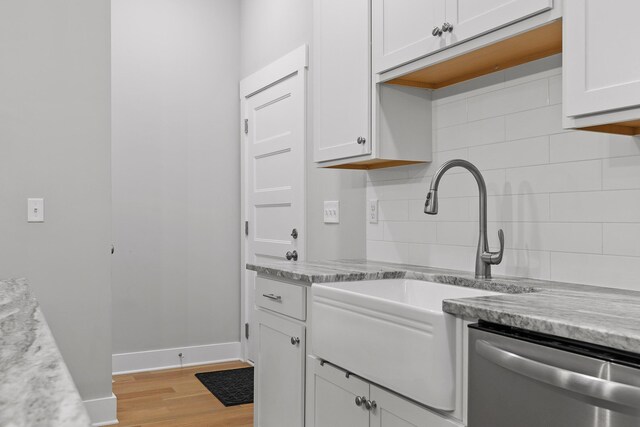
{"label": "uppermost full-length white subway tile below the wood-bottomed cabinet", "polygon": [[534,80],[469,98],[467,117],[469,121],[473,121],[504,116],[546,106],[548,100],[549,83],[547,79]]}

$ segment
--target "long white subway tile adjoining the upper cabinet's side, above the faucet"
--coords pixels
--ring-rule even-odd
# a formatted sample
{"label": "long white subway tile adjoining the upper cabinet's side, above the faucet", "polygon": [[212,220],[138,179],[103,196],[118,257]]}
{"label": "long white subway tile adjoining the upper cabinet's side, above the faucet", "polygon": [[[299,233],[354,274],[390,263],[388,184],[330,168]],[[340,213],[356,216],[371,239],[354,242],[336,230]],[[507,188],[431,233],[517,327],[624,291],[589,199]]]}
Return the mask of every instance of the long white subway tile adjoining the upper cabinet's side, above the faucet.
{"label": "long white subway tile adjoining the upper cabinet's side, above the faucet", "polygon": [[505,140],[505,118],[485,120],[450,126],[436,130],[438,151],[456,150]]}

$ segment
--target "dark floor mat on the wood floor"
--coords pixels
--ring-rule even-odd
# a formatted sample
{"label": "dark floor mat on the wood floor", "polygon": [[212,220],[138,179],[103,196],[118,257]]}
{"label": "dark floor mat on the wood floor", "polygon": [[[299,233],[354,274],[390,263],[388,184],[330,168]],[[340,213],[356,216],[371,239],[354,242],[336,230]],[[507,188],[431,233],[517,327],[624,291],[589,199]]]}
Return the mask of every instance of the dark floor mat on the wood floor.
{"label": "dark floor mat on the wood floor", "polygon": [[201,372],[196,374],[196,378],[224,406],[253,403],[253,368]]}

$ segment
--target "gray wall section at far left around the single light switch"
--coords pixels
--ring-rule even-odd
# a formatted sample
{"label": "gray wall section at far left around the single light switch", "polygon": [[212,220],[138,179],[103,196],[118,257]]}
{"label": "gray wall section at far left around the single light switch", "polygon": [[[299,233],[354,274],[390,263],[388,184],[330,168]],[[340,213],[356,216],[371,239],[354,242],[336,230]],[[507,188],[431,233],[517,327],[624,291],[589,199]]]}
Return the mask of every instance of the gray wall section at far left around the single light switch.
{"label": "gray wall section at far left around the single light switch", "polygon": [[0,277],[29,280],[83,399],[111,396],[109,32],[108,0],[0,2]]}

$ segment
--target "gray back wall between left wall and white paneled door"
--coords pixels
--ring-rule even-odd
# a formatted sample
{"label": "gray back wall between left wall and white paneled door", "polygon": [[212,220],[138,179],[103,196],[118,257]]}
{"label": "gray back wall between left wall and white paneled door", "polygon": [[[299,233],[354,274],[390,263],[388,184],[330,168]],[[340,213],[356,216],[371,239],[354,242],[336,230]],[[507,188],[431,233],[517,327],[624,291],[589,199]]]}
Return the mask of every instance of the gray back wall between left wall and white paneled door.
{"label": "gray back wall between left wall and white paneled door", "polygon": [[113,0],[113,352],[239,341],[237,0]]}

